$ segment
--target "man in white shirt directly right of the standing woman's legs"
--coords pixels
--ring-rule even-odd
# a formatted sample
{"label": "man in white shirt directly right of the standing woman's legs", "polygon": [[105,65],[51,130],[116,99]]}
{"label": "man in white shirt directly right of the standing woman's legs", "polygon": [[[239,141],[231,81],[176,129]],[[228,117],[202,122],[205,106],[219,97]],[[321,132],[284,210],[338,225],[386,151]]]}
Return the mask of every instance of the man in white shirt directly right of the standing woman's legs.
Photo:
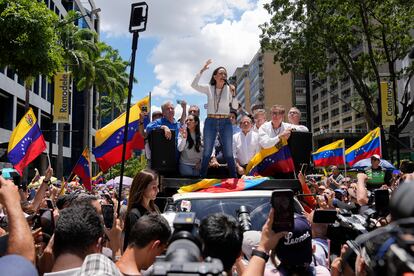
{"label": "man in white shirt directly right of the standing woman's legs", "polygon": [[233,135],[233,155],[239,175],[246,174],[246,166],[260,151],[259,134],[252,130],[252,120],[243,116],[240,120],[241,131]]}

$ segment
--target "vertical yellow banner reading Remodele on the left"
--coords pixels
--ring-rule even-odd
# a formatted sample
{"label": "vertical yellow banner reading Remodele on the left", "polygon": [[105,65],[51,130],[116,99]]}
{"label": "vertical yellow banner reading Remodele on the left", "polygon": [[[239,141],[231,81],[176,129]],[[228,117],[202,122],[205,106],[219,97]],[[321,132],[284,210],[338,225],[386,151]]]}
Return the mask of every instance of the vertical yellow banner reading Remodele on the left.
{"label": "vertical yellow banner reading Remodele on the left", "polygon": [[55,101],[53,123],[69,123],[69,101],[71,80],[69,72],[55,75]]}

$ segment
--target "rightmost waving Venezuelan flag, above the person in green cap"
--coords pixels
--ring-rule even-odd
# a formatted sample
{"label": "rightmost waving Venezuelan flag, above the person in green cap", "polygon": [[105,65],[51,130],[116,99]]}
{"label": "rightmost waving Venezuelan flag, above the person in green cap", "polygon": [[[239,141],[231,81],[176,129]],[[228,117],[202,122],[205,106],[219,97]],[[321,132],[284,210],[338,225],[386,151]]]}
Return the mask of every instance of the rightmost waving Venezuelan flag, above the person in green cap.
{"label": "rightmost waving Venezuelan flag, above the person in green cap", "polygon": [[381,130],[379,127],[370,131],[361,140],[345,151],[346,162],[353,166],[359,160],[370,158],[372,155],[381,156]]}

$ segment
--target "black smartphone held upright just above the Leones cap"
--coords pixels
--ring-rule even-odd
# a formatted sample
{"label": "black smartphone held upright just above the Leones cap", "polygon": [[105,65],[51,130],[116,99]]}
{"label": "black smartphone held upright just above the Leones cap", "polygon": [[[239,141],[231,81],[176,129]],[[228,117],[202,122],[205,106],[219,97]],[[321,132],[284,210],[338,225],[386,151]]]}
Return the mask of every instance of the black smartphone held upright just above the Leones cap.
{"label": "black smartphone held upright just above the Leones cap", "polygon": [[289,189],[273,191],[271,203],[275,209],[273,231],[275,233],[292,231],[294,227],[293,191]]}

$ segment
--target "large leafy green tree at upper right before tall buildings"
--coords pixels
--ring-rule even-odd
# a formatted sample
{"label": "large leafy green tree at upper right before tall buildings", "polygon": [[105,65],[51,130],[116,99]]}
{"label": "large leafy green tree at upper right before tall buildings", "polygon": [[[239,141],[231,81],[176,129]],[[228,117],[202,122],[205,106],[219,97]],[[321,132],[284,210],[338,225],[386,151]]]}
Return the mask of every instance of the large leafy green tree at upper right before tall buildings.
{"label": "large leafy green tree at upper right before tall buildings", "polygon": [[[364,103],[371,126],[380,125],[378,93],[386,74],[396,91],[397,81],[410,81],[414,67],[399,68],[414,39],[413,0],[273,0],[272,15],[261,26],[261,45],[275,52],[282,70],[309,70],[334,82],[349,76]],[[408,86],[396,133],[408,124],[414,110]]]}

